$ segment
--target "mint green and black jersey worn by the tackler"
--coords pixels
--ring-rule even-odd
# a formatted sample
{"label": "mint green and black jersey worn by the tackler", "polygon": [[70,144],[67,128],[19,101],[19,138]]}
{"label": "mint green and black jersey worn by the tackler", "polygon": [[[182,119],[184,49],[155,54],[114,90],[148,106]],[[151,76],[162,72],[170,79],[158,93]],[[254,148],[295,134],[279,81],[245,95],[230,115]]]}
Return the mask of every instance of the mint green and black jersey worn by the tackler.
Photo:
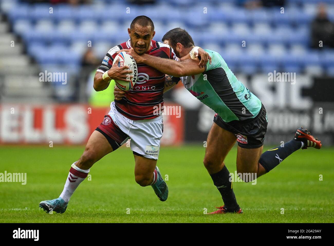
{"label": "mint green and black jersey worn by the tackler", "polygon": [[211,56],[205,72],[181,78],[184,87],[198,100],[212,108],[225,121],[254,118],[262,103],[228,68],[215,51],[204,50]]}

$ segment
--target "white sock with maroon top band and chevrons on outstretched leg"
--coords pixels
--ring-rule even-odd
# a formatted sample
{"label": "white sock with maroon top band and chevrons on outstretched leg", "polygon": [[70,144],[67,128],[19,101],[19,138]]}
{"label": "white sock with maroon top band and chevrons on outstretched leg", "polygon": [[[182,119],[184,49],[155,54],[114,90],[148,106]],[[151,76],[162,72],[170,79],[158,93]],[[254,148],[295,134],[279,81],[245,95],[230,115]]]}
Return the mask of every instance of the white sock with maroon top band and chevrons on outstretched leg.
{"label": "white sock with maroon top band and chevrons on outstretched leg", "polygon": [[[75,163],[75,162],[74,162]],[[72,164],[71,169],[69,169],[69,173],[64,185],[64,189],[61,192],[60,196],[65,202],[69,201],[69,198],[74,193],[74,190],[79,186],[79,184],[85,180],[87,177],[90,169],[88,170],[82,170],[75,166],[75,164]]]}

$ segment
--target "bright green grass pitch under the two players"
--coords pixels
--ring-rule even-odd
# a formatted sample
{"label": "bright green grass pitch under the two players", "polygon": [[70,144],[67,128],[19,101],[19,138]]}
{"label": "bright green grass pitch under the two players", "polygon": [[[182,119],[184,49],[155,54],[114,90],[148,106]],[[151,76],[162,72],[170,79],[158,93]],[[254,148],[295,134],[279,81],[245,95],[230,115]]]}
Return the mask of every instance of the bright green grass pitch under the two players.
{"label": "bright green grass pitch under the two players", "polygon": [[[242,215],[206,215],[205,208],[212,212],[223,203],[202,164],[202,146],[160,149],[158,167],[162,176],[168,175],[165,202],[159,201],[150,186],[135,182],[133,154],[130,148],[122,147],[93,166],[92,180],[80,184],[64,214],[46,214],[38,203],[59,196],[70,165],[83,148],[1,146],[0,173],[27,173],[27,184],[0,183],[0,222],[334,222],[333,148],[298,150],[260,177],[256,185],[234,182]],[[234,147],[225,160],[230,172],[236,170],[235,160]]]}

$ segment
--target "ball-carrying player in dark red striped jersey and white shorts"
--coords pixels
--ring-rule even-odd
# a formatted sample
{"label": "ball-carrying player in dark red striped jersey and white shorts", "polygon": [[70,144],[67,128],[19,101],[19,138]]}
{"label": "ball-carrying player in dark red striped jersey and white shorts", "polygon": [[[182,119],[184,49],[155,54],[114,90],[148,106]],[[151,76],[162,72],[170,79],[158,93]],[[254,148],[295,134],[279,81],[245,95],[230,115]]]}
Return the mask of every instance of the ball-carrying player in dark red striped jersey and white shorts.
{"label": "ball-carrying player in dark red striped jersey and white shorts", "polygon": [[[130,39],[109,50],[94,78],[94,89],[101,91],[112,79],[129,81],[129,67],[118,67],[113,61],[117,52],[132,48],[139,55],[177,60],[169,45],[152,40],[154,24],[147,16],[137,16],[128,28]],[[197,64],[198,65],[198,64]],[[135,158],[135,180],[141,186],[151,185],[161,201],[168,197],[168,187],[156,166],[160,139],[163,133],[161,114],[154,114],[154,106],[163,105],[165,74],[146,64],[137,63],[137,83],[126,91],[121,101],[111,103],[111,110],[90,136],[85,151],[71,165],[59,198],[45,200],[39,206],[49,213],[64,213],[68,201],[78,185],[88,176],[90,168],[105,155],[117,150],[131,138]]]}

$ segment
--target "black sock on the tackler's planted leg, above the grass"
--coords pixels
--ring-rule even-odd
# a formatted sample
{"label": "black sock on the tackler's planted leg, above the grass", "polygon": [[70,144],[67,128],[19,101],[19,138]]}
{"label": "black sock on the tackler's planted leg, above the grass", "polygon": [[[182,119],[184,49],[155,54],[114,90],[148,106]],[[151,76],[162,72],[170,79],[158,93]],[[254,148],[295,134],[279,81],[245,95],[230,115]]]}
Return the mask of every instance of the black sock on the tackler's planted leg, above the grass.
{"label": "black sock on the tackler's planted leg, above the grass", "polygon": [[230,181],[230,174],[224,166],[219,172],[210,174],[213,184],[217,187],[223,198],[224,205],[228,209],[240,209],[232,189],[232,182]]}

